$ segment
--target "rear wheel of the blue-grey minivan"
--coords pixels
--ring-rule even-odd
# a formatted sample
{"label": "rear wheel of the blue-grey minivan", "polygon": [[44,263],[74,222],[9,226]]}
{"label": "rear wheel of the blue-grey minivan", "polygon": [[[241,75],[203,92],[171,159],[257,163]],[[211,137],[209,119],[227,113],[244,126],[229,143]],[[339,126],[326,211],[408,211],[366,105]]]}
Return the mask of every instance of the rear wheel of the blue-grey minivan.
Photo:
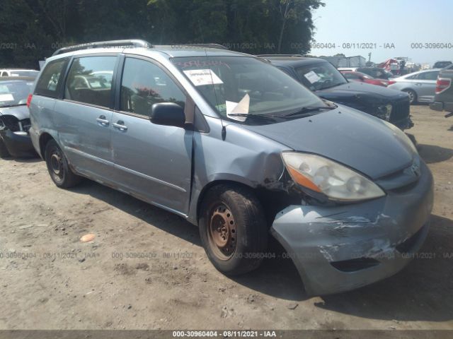
{"label": "rear wheel of the blue-grey minivan", "polygon": [[81,182],[81,177],[69,168],[68,160],[55,140],[45,146],[45,162],[52,181],[61,189],[69,189]]}

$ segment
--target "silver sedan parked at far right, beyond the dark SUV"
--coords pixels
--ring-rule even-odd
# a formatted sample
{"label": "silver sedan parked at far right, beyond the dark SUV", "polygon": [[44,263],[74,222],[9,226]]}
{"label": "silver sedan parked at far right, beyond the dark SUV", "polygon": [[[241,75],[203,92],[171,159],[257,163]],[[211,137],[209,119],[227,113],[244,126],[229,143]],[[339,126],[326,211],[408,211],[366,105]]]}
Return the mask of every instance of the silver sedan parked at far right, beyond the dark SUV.
{"label": "silver sedan parked at far right, beyond the dark SUV", "polygon": [[388,88],[408,93],[411,104],[432,102],[439,71],[439,69],[429,69],[393,78],[389,81]]}

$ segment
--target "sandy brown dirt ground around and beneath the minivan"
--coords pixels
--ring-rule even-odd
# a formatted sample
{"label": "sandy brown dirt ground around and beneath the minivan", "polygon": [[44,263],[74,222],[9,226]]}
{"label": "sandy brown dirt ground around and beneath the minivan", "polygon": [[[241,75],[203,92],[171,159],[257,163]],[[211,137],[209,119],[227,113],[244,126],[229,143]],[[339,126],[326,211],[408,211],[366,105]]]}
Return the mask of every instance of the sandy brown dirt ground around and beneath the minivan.
{"label": "sandy brown dirt ground around and beneath the minivan", "polygon": [[421,250],[434,258],[328,297],[307,297],[288,260],[227,278],[178,216],[88,180],[57,189],[40,160],[0,160],[0,329],[453,329],[453,118],[411,111],[435,177]]}

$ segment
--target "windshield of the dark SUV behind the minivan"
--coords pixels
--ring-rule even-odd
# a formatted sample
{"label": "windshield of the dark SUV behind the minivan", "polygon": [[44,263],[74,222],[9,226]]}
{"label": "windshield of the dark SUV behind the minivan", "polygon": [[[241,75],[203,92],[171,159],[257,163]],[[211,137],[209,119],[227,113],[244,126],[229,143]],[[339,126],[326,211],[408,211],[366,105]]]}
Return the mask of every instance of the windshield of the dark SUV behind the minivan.
{"label": "windshield of the dark SUV behind the minivan", "polygon": [[323,90],[347,83],[338,69],[328,62],[298,67],[296,71],[310,90]]}

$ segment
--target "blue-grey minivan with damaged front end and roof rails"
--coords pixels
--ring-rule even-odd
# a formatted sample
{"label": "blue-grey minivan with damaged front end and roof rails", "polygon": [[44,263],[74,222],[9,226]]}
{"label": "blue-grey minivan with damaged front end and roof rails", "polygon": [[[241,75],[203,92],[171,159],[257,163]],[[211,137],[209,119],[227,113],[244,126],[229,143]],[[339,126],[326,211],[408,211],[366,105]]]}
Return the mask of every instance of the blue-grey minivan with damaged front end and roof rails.
{"label": "blue-grey minivan with damaged front end and roof rails", "polygon": [[[112,87],[71,86],[95,71]],[[428,232],[432,175],[406,134],[258,57],[67,47],[47,59],[30,117],[58,187],[87,177],[180,215],[226,275],[275,255],[273,234],[309,294],[350,290],[401,270]]]}

